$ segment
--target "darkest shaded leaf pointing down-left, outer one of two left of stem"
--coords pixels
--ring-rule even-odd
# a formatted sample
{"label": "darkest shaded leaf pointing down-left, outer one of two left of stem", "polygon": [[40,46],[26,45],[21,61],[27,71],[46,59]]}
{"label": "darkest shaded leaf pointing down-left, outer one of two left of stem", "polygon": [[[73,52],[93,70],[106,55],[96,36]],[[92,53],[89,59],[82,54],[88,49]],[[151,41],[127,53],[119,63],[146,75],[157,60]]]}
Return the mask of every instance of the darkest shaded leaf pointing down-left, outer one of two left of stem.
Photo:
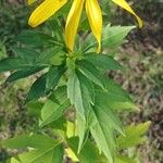
{"label": "darkest shaded leaf pointing down-left, outer one of two left of stem", "polygon": [[46,93],[46,75],[40,76],[30,87],[26,102],[37,100]]}

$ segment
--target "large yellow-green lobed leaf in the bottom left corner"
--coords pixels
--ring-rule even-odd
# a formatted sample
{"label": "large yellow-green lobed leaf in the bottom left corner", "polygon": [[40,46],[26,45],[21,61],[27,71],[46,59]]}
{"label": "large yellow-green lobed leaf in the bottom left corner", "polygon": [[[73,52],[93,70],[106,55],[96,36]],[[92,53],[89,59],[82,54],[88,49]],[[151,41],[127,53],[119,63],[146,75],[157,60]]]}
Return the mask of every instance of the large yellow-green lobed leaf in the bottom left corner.
{"label": "large yellow-green lobed leaf in the bottom left corner", "polygon": [[8,148],[33,148],[29,152],[20,154],[16,158],[21,163],[62,163],[63,160],[63,146],[61,140],[52,139],[46,135],[21,135],[4,140],[3,146]]}

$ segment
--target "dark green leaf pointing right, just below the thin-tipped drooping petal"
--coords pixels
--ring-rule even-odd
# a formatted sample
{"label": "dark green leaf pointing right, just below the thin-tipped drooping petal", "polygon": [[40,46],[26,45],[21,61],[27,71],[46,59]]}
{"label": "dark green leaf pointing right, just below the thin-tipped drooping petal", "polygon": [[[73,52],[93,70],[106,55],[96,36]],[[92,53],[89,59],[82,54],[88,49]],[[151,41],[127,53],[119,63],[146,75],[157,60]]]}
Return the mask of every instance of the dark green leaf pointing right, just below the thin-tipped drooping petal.
{"label": "dark green leaf pointing right, just below the thin-tipped drooping petal", "polygon": [[105,54],[90,53],[86,54],[86,60],[91,62],[99,68],[105,70],[122,70],[122,66],[112,57]]}

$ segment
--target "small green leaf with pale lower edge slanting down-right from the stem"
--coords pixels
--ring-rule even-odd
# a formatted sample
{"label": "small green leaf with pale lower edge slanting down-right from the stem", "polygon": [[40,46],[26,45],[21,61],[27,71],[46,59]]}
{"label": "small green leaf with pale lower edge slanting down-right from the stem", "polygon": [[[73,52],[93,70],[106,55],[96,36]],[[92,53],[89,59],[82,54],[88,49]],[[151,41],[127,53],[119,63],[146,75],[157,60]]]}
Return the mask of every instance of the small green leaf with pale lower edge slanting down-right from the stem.
{"label": "small green leaf with pale lower edge slanting down-right from the stem", "polygon": [[78,70],[91,82],[96,85],[100,86],[104,89],[103,84],[101,82],[103,75],[100,74],[99,70],[91,63],[86,60],[77,61]]}

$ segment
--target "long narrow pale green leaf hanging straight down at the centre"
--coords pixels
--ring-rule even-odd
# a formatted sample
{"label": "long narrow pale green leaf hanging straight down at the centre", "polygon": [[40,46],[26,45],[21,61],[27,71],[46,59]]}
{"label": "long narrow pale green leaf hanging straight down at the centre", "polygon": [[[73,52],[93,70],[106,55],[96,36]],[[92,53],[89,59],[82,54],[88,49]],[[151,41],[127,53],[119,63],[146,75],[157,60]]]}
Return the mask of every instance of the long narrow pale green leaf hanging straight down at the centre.
{"label": "long narrow pale green leaf hanging straight down at the centre", "polygon": [[67,97],[76,109],[76,130],[79,137],[78,151],[80,151],[88,134],[87,118],[90,105],[93,103],[95,91],[91,82],[78,70],[72,71],[68,75]]}

